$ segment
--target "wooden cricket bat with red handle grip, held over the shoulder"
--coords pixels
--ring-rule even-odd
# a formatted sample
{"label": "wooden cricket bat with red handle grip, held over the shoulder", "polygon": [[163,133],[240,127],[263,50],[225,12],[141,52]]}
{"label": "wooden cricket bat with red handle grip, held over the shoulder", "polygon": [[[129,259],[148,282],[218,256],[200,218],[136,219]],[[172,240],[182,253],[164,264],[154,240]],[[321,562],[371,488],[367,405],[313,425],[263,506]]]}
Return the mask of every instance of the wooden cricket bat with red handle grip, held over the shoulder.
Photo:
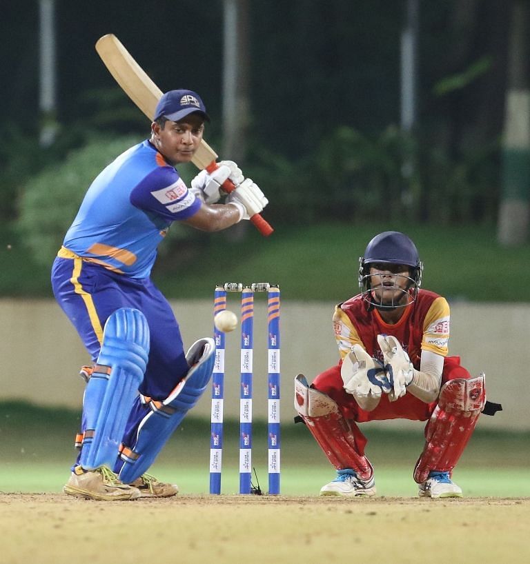
{"label": "wooden cricket bat with red handle grip, held over the shoulder", "polygon": [[[148,119],[153,120],[162,92],[130,56],[121,41],[114,34],[109,33],[97,40],[96,51],[121,89]],[[219,166],[216,161],[217,153],[203,139],[191,162],[200,170],[206,168],[208,172],[213,172]],[[226,180],[221,188],[229,194],[235,190],[235,185],[232,181]],[[271,225],[259,214],[253,215],[251,221],[262,235],[268,236],[273,232]]]}

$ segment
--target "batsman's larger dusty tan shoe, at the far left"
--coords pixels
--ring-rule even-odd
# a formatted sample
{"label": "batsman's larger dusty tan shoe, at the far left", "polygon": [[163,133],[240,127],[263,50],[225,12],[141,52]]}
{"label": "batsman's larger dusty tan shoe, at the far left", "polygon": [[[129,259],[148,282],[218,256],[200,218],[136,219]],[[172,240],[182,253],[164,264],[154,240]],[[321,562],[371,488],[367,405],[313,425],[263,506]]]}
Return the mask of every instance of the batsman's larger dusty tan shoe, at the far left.
{"label": "batsman's larger dusty tan shoe, at the far left", "polygon": [[81,466],[76,466],[63,487],[63,492],[99,501],[137,499],[141,496],[136,487],[119,481],[118,476],[106,466],[95,470],[83,470]]}

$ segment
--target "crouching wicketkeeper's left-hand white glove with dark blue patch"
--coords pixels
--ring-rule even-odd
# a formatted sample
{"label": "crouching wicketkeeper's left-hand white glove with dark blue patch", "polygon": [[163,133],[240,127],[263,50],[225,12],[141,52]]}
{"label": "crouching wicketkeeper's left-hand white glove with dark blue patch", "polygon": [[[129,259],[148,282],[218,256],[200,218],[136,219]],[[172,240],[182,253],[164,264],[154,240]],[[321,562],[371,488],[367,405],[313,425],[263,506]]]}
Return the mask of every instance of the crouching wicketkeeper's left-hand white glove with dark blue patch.
{"label": "crouching wicketkeeper's left-hand white glove with dark blue patch", "polygon": [[344,390],[352,394],[366,411],[377,407],[383,385],[388,386],[382,363],[373,359],[361,345],[353,345],[351,351],[344,356],[340,375]]}

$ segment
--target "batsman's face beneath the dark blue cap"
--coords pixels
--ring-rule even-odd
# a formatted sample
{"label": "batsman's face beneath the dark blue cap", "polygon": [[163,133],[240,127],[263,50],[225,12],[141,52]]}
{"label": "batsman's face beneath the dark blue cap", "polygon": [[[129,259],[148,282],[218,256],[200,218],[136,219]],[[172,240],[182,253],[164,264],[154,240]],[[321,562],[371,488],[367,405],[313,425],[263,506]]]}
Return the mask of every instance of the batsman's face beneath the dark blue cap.
{"label": "batsman's face beneath the dark blue cap", "polygon": [[180,121],[166,121],[164,129],[153,125],[152,141],[170,163],[188,163],[202,141],[204,119],[189,114]]}

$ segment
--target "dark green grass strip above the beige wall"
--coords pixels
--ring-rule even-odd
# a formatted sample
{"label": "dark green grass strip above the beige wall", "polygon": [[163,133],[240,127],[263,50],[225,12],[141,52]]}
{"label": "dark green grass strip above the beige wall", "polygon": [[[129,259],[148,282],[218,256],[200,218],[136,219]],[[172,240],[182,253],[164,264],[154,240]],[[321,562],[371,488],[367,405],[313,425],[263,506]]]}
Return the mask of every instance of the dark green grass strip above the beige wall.
{"label": "dark green grass strip above the beige wall", "polygon": [[[337,303],[358,290],[358,259],[366,244],[391,229],[406,232],[418,246],[424,288],[450,300],[528,301],[527,285],[518,281],[530,278],[530,244],[502,248],[493,225],[277,225],[268,238],[249,226],[241,240],[230,230],[193,232],[188,240],[160,246],[153,279],[170,298],[211,299],[219,282],[269,281],[280,284],[284,300]],[[51,298],[54,257],[36,263],[5,225],[0,225],[0,240],[0,296]]]}

